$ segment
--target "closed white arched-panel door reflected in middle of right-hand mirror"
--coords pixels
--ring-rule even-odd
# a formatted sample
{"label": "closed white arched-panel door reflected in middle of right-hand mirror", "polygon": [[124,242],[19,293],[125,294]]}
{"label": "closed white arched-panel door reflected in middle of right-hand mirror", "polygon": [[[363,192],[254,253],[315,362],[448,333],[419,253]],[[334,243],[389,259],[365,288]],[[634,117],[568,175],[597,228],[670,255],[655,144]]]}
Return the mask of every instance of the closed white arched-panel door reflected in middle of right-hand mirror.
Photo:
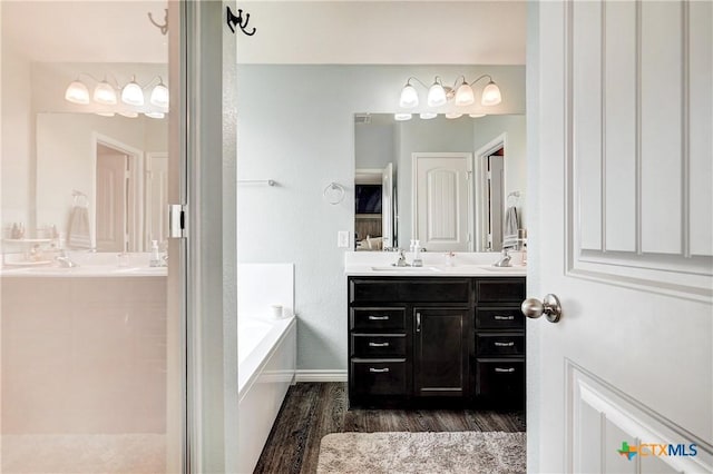
{"label": "closed white arched-panel door reflected in middle of right-hand mirror", "polygon": [[472,250],[472,154],[413,154],[413,238],[428,251]]}

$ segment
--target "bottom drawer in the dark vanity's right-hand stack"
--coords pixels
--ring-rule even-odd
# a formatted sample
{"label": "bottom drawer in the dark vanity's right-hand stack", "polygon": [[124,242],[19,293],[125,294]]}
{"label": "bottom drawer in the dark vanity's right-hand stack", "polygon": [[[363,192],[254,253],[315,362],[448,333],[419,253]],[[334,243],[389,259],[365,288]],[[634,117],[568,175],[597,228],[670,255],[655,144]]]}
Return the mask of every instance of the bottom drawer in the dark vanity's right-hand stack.
{"label": "bottom drawer in the dark vanity's right-hand stack", "polygon": [[524,401],[525,361],[511,358],[477,359],[476,394],[502,401]]}

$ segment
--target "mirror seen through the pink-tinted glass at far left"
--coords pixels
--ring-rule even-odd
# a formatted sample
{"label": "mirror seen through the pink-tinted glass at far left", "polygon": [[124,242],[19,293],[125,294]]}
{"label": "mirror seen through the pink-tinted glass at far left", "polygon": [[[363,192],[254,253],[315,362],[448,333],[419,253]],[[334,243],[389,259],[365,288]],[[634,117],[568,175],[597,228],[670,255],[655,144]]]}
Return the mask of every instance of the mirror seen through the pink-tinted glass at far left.
{"label": "mirror seen through the pink-tinted glass at far left", "polygon": [[[37,113],[38,229],[98,251],[146,251],[164,241],[167,134],[166,118]],[[87,228],[72,235],[82,208]]]}

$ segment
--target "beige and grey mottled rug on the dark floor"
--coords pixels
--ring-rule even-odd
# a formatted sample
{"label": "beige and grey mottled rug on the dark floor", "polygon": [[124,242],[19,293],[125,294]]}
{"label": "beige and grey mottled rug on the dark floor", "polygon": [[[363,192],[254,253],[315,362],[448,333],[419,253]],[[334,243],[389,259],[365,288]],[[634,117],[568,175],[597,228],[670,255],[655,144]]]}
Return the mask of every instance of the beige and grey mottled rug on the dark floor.
{"label": "beige and grey mottled rug on the dark floor", "polygon": [[486,474],[526,471],[525,433],[334,433],[318,474]]}

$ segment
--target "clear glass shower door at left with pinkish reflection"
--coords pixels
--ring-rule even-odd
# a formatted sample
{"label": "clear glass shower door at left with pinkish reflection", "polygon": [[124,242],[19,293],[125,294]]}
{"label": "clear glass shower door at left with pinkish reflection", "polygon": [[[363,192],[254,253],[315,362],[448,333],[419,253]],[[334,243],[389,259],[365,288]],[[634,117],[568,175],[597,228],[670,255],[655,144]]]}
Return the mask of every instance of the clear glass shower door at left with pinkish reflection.
{"label": "clear glass shower door at left with pinkish reflection", "polygon": [[3,473],[184,468],[177,8],[0,3]]}

